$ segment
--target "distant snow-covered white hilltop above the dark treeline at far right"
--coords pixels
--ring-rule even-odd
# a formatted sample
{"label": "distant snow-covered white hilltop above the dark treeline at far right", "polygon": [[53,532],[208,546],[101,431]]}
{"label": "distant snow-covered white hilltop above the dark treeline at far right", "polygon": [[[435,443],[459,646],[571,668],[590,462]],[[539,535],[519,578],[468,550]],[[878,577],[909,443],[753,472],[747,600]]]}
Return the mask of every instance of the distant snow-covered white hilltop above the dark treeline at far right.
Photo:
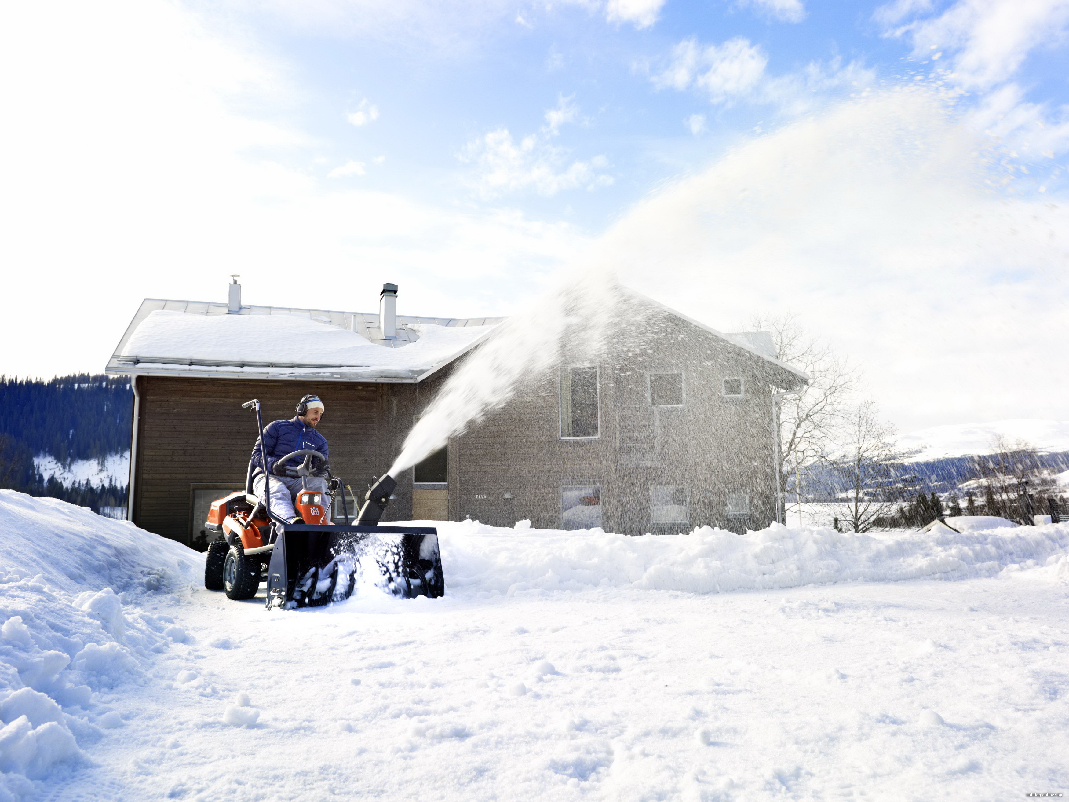
{"label": "distant snow-covered white hilltop above the dark treeline at far right", "polygon": [[916,451],[911,459],[920,462],[992,453],[995,438],[1000,436],[1011,444],[1023,441],[1040,451],[1069,451],[1069,420],[1020,418],[934,426],[903,434],[898,444],[904,450]]}

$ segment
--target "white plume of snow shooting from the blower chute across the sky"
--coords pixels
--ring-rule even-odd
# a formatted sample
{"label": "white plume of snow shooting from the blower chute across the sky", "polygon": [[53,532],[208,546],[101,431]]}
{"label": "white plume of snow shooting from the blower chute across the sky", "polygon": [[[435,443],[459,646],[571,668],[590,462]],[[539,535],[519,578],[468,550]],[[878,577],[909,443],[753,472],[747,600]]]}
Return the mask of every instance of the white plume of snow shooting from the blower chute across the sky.
{"label": "white plume of snow shooting from the blower chute across the sky", "polygon": [[[962,117],[923,88],[865,95],[748,140],[638,203],[572,269],[578,278],[468,356],[391,474],[555,369],[562,349],[583,344],[566,342],[576,319],[595,355],[619,312],[606,289],[617,282],[714,327],[804,310],[807,327],[869,366],[892,417],[918,404],[928,415],[1019,416],[1009,405],[1038,370],[1021,354],[1058,364],[1069,225],[1029,185],[1037,166],[1014,167]],[[983,394],[979,365],[1002,380]],[[925,374],[941,391],[918,400]],[[1055,417],[1069,381],[1049,380]]]}

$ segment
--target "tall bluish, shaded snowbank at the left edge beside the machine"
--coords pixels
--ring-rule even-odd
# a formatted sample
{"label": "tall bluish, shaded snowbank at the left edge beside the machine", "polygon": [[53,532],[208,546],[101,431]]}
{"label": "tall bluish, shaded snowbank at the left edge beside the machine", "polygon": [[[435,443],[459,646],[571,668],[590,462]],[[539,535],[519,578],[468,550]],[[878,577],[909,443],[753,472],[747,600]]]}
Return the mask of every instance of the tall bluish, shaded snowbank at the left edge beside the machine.
{"label": "tall bluish, shaded snowbank at the left edge beside the machine", "polygon": [[122,725],[96,692],[142,681],[184,633],[137,606],[185,591],[185,546],[53,498],[0,491],[0,802],[34,793]]}

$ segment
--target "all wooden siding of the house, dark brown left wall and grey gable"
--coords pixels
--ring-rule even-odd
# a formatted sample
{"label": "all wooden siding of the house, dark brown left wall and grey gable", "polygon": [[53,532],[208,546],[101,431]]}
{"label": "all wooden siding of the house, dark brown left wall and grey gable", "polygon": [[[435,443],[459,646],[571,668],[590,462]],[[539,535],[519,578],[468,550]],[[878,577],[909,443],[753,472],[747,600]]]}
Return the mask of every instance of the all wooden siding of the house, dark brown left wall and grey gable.
{"label": "all wooden siding of the house, dark brown left wall and grey gable", "polygon": [[[640,535],[675,534],[709,524],[733,531],[775,520],[775,434],[772,391],[781,368],[668,312],[641,310],[644,325],[606,338],[611,346],[591,359],[566,349],[563,365],[599,367],[599,436],[562,439],[557,369],[531,376],[500,410],[449,442],[448,515],[511,526],[561,525],[561,487],[601,488],[602,527]],[[582,338],[577,338],[582,341]],[[320,431],[330,444],[331,467],[358,498],[401,451],[414,417],[427,410],[464,358],[420,385],[257,382],[145,377],[141,395],[134,520],[143,528],[186,541],[190,487],[243,482],[255,423],[241,408],[260,398],[265,423],[292,418],[306,392],[320,395]],[[653,406],[651,373],[681,372],[682,406]],[[745,380],[743,398],[726,398],[727,377]],[[413,471],[401,472],[384,521],[413,515]],[[653,524],[650,489],[687,489],[690,523]],[[749,495],[750,513],[727,514],[727,496]],[[437,504],[441,499],[436,498]]]}

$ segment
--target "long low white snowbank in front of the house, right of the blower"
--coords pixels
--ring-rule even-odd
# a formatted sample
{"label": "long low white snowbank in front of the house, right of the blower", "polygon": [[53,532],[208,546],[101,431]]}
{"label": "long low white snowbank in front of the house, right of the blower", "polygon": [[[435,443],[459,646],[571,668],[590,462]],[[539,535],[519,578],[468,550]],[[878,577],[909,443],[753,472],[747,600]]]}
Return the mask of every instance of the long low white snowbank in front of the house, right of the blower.
{"label": "long low white snowbank in front of the house, right of the blower", "polygon": [[994,522],[964,534],[893,535],[774,524],[744,537],[708,526],[690,535],[626,537],[437,524],[446,587],[459,595],[592,587],[711,593],[856,580],[963,580],[1053,565],[1069,552],[1069,524],[1005,528]]}

